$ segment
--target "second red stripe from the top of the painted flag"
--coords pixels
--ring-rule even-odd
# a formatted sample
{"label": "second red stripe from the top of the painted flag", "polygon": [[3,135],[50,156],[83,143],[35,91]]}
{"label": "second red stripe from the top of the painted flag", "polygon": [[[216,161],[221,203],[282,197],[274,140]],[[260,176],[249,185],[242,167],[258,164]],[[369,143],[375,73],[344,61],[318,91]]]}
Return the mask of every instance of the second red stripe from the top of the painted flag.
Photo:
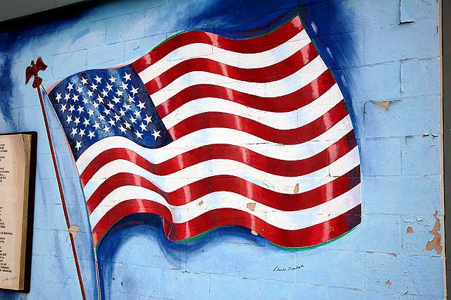
{"label": "second red stripe from the top of the painted flag", "polygon": [[147,82],[145,86],[149,94],[154,94],[154,92],[168,86],[178,77],[194,71],[214,73],[246,82],[272,82],[292,75],[316,58],[316,56],[318,56],[318,52],[314,44],[309,43],[285,60],[263,68],[237,68],[209,58],[192,58],[174,65]]}

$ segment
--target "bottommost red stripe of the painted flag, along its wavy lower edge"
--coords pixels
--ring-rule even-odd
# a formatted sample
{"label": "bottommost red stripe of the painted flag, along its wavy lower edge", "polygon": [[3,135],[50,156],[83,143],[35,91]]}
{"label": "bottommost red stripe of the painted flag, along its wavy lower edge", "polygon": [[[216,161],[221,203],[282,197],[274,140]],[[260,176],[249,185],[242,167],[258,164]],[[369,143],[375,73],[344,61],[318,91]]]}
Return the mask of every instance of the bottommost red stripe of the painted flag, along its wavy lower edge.
{"label": "bottommost red stripe of the painted flag, along its wavy lower edge", "polygon": [[171,212],[161,204],[142,199],[131,199],[121,202],[111,208],[92,230],[94,245],[116,222],[132,213],[155,213],[161,215],[166,237],[172,241],[179,241],[201,235],[216,227],[239,225],[256,231],[262,237],[279,246],[305,247],[328,242],[356,227],[360,223],[360,204],[347,213],[326,222],[299,230],[283,230],[270,225],[260,218],[245,211],[232,208],[220,208],[208,211],[186,223],[172,223]]}

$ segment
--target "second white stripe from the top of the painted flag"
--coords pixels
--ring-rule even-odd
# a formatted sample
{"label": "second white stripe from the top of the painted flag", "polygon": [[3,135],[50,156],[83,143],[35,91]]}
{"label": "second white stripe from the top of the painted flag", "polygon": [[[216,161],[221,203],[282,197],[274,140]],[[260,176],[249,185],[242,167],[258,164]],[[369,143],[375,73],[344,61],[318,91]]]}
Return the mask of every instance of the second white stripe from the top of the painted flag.
{"label": "second white stripe from the top of the painted flag", "polygon": [[163,89],[151,94],[151,97],[155,106],[158,106],[192,85],[218,85],[261,97],[284,96],[308,85],[326,70],[326,64],[317,56],[296,73],[273,82],[245,82],[214,73],[194,71],[178,77]]}

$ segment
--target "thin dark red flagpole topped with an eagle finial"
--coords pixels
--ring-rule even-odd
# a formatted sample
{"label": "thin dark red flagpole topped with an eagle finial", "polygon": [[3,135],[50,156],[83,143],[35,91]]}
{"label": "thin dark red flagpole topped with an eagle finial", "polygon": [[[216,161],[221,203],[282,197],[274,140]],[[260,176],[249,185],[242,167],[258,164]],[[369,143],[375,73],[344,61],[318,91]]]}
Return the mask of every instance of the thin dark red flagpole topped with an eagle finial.
{"label": "thin dark red flagpole topped with an eagle finial", "polygon": [[45,65],[45,63],[42,61],[42,58],[38,58],[36,63],[35,63],[35,61],[32,61],[31,66],[27,67],[27,70],[25,72],[25,74],[26,74],[25,85],[27,84],[28,80],[30,80],[31,76],[35,77],[35,80],[33,81],[33,87],[35,89],[37,89],[37,95],[39,96],[39,102],[40,102],[41,108],[42,108],[42,115],[44,117],[45,128],[47,130],[47,138],[49,139],[51,159],[54,163],[56,181],[58,182],[59,194],[61,196],[61,204],[63,205],[64,218],[66,219],[66,225],[68,227],[68,232],[69,232],[69,237],[70,237],[70,245],[72,246],[72,253],[73,253],[73,258],[75,261],[75,268],[77,269],[78,282],[80,283],[80,291],[82,293],[82,299],[86,300],[85,286],[83,285],[82,275],[80,272],[80,264],[78,263],[78,256],[77,256],[77,251],[75,249],[75,242],[73,239],[72,232],[70,232],[70,220],[69,220],[69,215],[68,215],[68,209],[66,206],[66,199],[64,198],[63,185],[61,184],[61,177],[59,175],[58,163],[56,162],[54,145],[53,145],[53,142],[51,139],[49,121],[47,120],[47,113],[46,113],[45,107],[44,107],[44,100],[42,99],[42,93],[41,93],[42,78],[37,75],[39,70],[45,70],[45,69],[47,69],[47,65]]}

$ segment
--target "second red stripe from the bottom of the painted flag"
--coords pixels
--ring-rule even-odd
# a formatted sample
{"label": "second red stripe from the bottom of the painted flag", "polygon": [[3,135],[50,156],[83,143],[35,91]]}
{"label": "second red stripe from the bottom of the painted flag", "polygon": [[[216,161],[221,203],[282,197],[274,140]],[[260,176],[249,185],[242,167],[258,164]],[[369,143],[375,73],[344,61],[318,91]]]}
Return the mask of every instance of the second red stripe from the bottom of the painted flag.
{"label": "second red stripe from the bottom of the painted flag", "polygon": [[[173,192],[164,192],[152,182],[139,175],[118,173],[105,180],[87,201],[89,215],[114,189],[123,186],[144,187],[163,196],[173,206],[181,206],[213,192],[240,194],[279,211],[300,211],[318,206],[344,194],[360,183],[360,167],[357,166],[335,180],[299,194],[283,194],[260,187],[252,182],[232,175],[217,175],[202,178]],[[293,187],[294,189],[294,187]]]}

